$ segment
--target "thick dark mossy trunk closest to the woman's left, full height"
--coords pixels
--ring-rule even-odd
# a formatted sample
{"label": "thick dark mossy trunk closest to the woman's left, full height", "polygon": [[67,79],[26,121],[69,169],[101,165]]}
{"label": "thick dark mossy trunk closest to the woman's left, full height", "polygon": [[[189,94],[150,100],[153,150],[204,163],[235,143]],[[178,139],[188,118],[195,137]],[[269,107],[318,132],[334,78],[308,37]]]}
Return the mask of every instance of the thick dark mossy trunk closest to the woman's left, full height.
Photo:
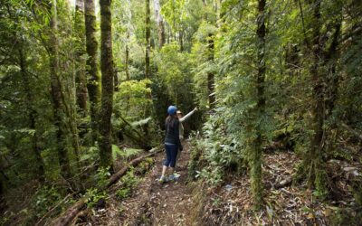
{"label": "thick dark mossy trunk closest to the woman's left, full height", "polygon": [[100,166],[110,167],[113,172],[110,117],[113,108],[113,63],[111,0],[100,0],[100,70],[101,111],[100,111]]}

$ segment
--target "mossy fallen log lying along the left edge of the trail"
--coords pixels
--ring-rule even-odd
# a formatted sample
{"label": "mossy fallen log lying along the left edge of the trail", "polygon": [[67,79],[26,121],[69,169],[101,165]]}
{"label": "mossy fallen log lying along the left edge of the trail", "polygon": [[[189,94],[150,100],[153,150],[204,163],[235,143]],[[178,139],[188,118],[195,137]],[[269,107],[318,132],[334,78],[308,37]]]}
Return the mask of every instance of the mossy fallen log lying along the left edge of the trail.
{"label": "mossy fallen log lying along the left edge of the trail", "polygon": [[[160,148],[160,146],[157,146],[155,148],[152,148],[151,150],[149,150],[149,154],[147,155],[142,155],[139,156],[138,158],[133,159],[132,161],[129,162],[128,165],[124,166],[123,168],[121,168],[116,174],[113,174],[110,177],[110,182],[107,184],[107,186],[102,190],[106,190],[108,188],[110,188],[110,186],[112,184],[116,184],[116,182],[118,182],[118,180],[127,173],[127,171],[129,170],[130,166],[137,166],[138,164],[140,164],[145,158],[149,157],[149,156],[153,156],[156,155],[157,153],[161,152],[162,149]],[[62,213],[62,215],[60,217],[58,217],[57,219],[55,219],[54,221],[52,221],[52,225],[55,226],[63,226],[63,225],[70,225],[71,222],[74,221],[74,219],[79,215],[79,212],[81,212],[82,210],[86,209],[87,207],[87,201],[88,198],[87,197],[83,197],[81,198],[80,201],[75,202],[70,208],[68,208],[65,212]]]}

